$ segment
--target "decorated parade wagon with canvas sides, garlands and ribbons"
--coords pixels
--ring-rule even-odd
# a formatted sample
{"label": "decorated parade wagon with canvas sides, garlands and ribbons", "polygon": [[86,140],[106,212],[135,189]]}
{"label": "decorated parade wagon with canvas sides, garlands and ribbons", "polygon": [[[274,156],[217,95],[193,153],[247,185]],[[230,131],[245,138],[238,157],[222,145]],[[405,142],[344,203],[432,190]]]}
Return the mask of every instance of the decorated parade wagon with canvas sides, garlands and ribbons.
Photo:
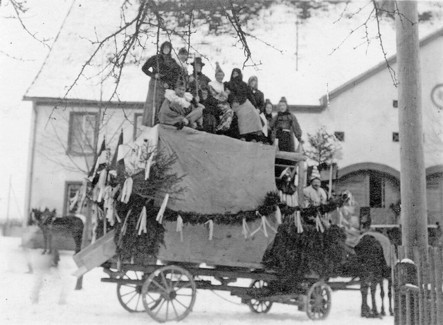
{"label": "decorated parade wagon with canvas sides, garlands and ribbons", "polygon": [[[74,256],[77,276],[103,266],[109,277],[102,281],[117,284],[120,304],[159,322],[186,317],[197,289],[228,291],[255,313],[281,303],[311,319],[327,317],[326,280],[340,272],[345,250],[343,231],[325,214],[344,199],[302,209],[297,192],[278,192],[276,157],[297,171],[278,181],[298,183],[302,193],[302,154],[163,125],[134,146],[126,151],[132,158],[119,153],[133,168],[124,182],[93,181],[105,235]],[[250,286],[238,284],[244,278]]]}

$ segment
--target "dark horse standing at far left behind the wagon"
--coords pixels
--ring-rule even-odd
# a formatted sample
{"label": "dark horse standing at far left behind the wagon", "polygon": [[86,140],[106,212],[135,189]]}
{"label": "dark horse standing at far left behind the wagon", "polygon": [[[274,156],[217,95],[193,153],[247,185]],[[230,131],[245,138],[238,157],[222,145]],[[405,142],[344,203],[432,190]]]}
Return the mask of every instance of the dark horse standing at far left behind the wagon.
{"label": "dark horse standing at far left behind the wagon", "polygon": [[43,254],[51,254],[53,250],[53,235],[62,234],[72,236],[75,242],[75,252],[80,252],[82,248],[83,221],[78,216],[64,216],[56,218],[55,210],[32,211],[33,219],[43,232],[44,250]]}

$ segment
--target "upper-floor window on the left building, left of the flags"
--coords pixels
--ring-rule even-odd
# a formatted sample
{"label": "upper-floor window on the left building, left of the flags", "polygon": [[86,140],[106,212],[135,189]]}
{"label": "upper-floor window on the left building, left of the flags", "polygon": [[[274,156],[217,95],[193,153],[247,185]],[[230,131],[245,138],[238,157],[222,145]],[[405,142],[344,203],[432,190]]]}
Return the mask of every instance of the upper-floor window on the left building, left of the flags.
{"label": "upper-floor window on the left building, left of the flags", "polygon": [[94,154],[96,152],[97,127],[98,113],[71,112],[69,115],[69,154]]}

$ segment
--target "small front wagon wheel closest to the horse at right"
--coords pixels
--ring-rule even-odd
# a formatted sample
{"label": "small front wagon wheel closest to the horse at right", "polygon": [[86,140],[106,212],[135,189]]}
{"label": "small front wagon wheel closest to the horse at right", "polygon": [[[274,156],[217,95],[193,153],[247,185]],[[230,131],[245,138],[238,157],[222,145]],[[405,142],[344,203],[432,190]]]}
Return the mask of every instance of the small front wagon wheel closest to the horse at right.
{"label": "small front wagon wheel closest to the horse at right", "polygon": [[325,319],[331,310],[331,288],[318,281],[307,290],[306,313],[310,319]]}

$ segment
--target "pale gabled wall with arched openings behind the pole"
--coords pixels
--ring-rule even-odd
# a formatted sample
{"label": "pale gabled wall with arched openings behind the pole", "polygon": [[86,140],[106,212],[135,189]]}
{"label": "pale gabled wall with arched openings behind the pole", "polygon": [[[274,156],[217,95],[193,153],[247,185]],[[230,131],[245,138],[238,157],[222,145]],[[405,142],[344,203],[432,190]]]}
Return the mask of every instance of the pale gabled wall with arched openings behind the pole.
{"label": "pale gabled wall with arched openings behind the pole", "polygon": [[[424,131],[424,159],[426,167],[443,163],[443,111],[431,100],[437,84],[443,84],[443,37],[420,48],[422,66],[422,117]],[[394,70],[397,64],[392,64]],[[355,164],[374,163],[400,171],[400,144],[392,141],[392,133],[399,131],[397,89],[387,68],[354,84],[345,91],[332,94],[329,105],[321,113],[296,112],[295,115],[307,138],[325,126],[329,133],[344,131],[343,159],[338,166],[343,169]],[[340,173],[339,173],[340,174]],[[427,177],[428,222],[443,222],[443,174]],[[368,170],[362,169],[346,175],[337,182],[338,192],[350,189],[359,206],[369,206],[370,181]],[[373,223],[397,223],[391,203],[400,198],[399,179],[387,177],[385,182],[386,207],[372,208]]]}

